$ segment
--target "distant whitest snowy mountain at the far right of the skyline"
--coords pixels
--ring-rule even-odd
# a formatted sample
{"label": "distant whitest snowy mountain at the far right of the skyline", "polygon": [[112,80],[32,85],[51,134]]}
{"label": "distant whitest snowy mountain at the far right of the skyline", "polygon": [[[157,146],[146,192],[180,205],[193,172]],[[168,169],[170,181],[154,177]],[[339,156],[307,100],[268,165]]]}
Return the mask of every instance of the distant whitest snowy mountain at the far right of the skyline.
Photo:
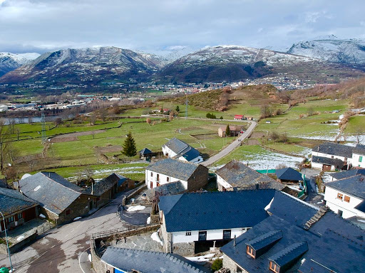
{"label": "distant whitest snowy mountain at the far right of the skyline", "polygon": [[320,36],[311,41],[294,43],[287,53],[319,58],[328,62],[365,65],[365,41]]}

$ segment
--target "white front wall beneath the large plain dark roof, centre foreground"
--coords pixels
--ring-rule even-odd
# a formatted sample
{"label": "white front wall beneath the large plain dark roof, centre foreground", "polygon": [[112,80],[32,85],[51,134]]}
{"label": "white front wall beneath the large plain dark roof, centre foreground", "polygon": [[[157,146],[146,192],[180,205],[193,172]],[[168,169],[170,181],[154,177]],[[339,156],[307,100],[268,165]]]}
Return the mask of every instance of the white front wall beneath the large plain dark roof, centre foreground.
{"label": "white front wall beneath the large plain dark roof, centre foreground", "polygon": [[[229,230],[229,228],[227,228]],[[203,230],[201,230],[203,231]],[[242,235],[247,231],[247,228],[232,228],[231,239]],[[191,235],[186,235],[186,232],[172,232],[173,243],[180,242],[197,242],[199,240],[199,230],[191,231]],[[223,230],[207,230],[207,240],[223,240]]]}

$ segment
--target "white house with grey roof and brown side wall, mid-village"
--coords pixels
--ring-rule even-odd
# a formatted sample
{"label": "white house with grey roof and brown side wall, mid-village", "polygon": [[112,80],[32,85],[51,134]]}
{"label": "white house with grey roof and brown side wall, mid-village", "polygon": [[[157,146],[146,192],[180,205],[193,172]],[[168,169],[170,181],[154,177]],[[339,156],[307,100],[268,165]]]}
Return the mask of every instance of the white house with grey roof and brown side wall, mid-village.
{"label": "white house with grey roof and brown side wall, mid-village", "polygon": [[180,181],[187,191],[197,191],[208,181],[208,169],[200,164],[177,159],[163,159],[145,168],[147,188],[155,188],[165,183]]}

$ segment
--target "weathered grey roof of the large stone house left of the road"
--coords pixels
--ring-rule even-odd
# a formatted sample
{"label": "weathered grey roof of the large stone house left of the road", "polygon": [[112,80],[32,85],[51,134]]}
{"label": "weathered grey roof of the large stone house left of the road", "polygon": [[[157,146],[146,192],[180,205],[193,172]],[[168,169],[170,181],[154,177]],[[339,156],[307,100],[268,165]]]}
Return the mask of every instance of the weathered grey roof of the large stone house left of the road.
{"label": "weathered grey roof of the large stone house left of the road", "polygon": [[20,191],[59,215],[81,196],[81,188],[57,173],[39,172],[19,181]]}

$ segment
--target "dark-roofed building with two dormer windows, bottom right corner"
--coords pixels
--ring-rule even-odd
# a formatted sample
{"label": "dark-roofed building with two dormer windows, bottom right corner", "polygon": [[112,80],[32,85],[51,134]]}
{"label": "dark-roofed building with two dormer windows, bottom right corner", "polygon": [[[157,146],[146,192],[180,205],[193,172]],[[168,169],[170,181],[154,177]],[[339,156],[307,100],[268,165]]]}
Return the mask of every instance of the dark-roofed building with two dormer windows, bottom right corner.
{"label": "dark-roofed building with two dormer windows, bottom right corner", "polygon": [[221,247],[231,273],[364,272],[365,231],[358,226],[282,192],[266,209],[268,218]]}

